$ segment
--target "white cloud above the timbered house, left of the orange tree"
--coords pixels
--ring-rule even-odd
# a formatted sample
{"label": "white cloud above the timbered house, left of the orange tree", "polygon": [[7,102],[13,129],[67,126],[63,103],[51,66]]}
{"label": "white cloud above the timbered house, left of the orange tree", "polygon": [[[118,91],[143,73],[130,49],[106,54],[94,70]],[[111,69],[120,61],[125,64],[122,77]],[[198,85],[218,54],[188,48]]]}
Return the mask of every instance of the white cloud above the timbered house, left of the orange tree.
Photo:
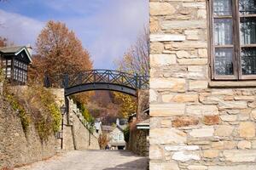
{"label": "white cloud above the timbered house, left of the orange tree", "polygon": [[0,9],[0,36],[9,38],[16,45],[34,44],[38,33],[44,23],[22,16],[9,13]]}

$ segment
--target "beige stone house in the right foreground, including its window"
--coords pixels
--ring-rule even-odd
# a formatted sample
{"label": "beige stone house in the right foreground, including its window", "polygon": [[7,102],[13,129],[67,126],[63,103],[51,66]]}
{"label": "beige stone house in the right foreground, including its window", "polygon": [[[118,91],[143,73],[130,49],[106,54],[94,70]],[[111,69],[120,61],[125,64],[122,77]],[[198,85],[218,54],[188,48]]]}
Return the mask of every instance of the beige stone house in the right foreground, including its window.
{"label": "beige stone house in the right foreground, including its window", "polygon": [[256,169],[255,23],[255,0],[150,0],[150,170]]}

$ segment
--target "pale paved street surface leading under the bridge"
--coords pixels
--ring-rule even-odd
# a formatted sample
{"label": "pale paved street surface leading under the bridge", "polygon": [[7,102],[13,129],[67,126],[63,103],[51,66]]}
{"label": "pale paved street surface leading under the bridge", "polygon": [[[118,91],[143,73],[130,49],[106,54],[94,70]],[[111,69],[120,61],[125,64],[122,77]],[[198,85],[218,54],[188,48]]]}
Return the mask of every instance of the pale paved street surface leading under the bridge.
{"label": "pale paved street surface leading under the bridge", "polygon": [[145,170],[147,160],[119,150],[75,150],[15,170]]}

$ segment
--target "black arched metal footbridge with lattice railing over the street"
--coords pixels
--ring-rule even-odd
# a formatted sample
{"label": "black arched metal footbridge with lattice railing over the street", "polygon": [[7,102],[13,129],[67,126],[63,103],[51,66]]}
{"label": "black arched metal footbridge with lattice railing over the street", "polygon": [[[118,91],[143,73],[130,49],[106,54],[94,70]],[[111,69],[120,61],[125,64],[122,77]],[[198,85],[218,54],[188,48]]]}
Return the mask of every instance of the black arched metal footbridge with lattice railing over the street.
{"label": "black arched metal footbridge with lattice railing over the street", "polygon": [[149,77],[121,71],[89,70],[60,77],[46,76],[44,85],[65,88],[66,96],[91,90],[113,90],[137,96],[138,89],[148,89]]}

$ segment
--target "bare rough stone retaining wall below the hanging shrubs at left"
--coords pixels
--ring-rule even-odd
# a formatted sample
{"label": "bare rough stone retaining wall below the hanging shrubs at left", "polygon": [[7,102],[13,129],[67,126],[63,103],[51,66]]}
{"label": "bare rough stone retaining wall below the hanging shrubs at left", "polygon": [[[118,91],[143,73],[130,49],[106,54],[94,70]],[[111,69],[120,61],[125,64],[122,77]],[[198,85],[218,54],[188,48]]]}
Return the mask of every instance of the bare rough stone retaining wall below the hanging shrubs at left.
{"label": "bare rough stone retaining wall below the hanging shrubs at left", "polygon": [[33,125],[25,135],[20,117],[0,95],[0,169],[20,166],[54,156],[56,139],[54,134],[41,143]]}

